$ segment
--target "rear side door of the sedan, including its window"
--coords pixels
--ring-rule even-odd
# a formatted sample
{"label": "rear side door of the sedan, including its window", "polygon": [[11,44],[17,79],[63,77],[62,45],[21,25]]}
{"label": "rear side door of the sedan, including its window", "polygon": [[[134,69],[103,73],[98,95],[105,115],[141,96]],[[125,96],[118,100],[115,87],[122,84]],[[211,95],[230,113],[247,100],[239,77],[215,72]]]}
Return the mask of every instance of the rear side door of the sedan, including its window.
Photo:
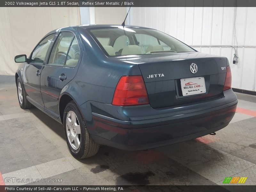
{"label": "rear side door of the sedan, including its window", "polygon": [[45,111],[59,117],[58,100],[62,88],[77,72],[81,51],[73,32],[60,32],[52,46],[41,75],[41,92]]}

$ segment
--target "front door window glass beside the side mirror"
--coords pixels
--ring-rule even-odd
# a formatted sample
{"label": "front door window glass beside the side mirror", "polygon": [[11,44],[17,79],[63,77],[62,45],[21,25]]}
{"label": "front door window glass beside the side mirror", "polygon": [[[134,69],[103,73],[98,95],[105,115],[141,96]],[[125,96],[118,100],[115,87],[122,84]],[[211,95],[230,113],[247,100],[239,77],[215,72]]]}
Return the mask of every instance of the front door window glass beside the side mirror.
{"label": "front door window glass beside the side mirror", "polygon": [[49,49],[50,44],[56,34],[49,35],[45,37],[35,48],[32,53],[31,60],[33,63],[43,64],[45,60],[46,53]]}

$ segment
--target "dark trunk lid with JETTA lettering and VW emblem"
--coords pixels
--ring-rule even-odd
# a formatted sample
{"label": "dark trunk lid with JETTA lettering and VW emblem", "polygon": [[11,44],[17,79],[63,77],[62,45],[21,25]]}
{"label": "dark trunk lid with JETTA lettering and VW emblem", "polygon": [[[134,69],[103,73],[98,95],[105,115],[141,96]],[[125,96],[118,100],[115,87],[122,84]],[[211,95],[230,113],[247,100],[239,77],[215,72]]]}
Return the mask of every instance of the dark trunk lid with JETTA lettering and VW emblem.
{"label": "dark trunk lid with JETTA lettering and VW emblem", "polygon": [[[126,59],[122,58],[121,60],[139,65],[152,108],[178,107],[182,104],[205,100],[223,94],[227,68],[227,59],[225,57],[189,52],[140,55]],[[190,70],[192,63],[197,65],[196,73],[192,73]],[[181,79],[193,77],[204,77],[205,93],[183,96],[182,87],[184,87],[184,83],[181,86]],[[187,80],[189,83],[187,87],[194,86],[190,85],[195,84],[193,80]],[[189,90],[191,91],[192,87]]]}

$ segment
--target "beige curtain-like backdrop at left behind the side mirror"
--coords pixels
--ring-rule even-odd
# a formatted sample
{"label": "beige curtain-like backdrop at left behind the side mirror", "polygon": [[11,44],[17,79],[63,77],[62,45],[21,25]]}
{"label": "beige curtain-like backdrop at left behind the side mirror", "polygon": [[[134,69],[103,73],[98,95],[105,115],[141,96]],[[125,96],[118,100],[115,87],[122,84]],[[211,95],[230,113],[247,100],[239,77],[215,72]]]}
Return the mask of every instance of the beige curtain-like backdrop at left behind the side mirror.
{"label": "beige curtain-like backdrop at left behind the side mirror", "polygon": [[79,7],[0,7],[0,75],[14,75],[14,56],[29,55],[48,32],[80,23]]}

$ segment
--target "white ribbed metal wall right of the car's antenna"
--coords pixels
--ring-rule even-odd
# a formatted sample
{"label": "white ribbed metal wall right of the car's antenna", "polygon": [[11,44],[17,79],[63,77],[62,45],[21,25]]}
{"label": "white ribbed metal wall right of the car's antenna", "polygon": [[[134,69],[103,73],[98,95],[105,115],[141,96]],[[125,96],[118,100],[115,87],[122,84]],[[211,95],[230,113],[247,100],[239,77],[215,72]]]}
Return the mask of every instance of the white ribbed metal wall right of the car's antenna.
{"label": "white ribbed metal wall right of the car's antenna", "polygon": [[[233,64],[236,9],[237,64]],[[132,7],[131,25],[156,28],[197,51],[228,58],[232,87],[256,91],[256,7]]]}

